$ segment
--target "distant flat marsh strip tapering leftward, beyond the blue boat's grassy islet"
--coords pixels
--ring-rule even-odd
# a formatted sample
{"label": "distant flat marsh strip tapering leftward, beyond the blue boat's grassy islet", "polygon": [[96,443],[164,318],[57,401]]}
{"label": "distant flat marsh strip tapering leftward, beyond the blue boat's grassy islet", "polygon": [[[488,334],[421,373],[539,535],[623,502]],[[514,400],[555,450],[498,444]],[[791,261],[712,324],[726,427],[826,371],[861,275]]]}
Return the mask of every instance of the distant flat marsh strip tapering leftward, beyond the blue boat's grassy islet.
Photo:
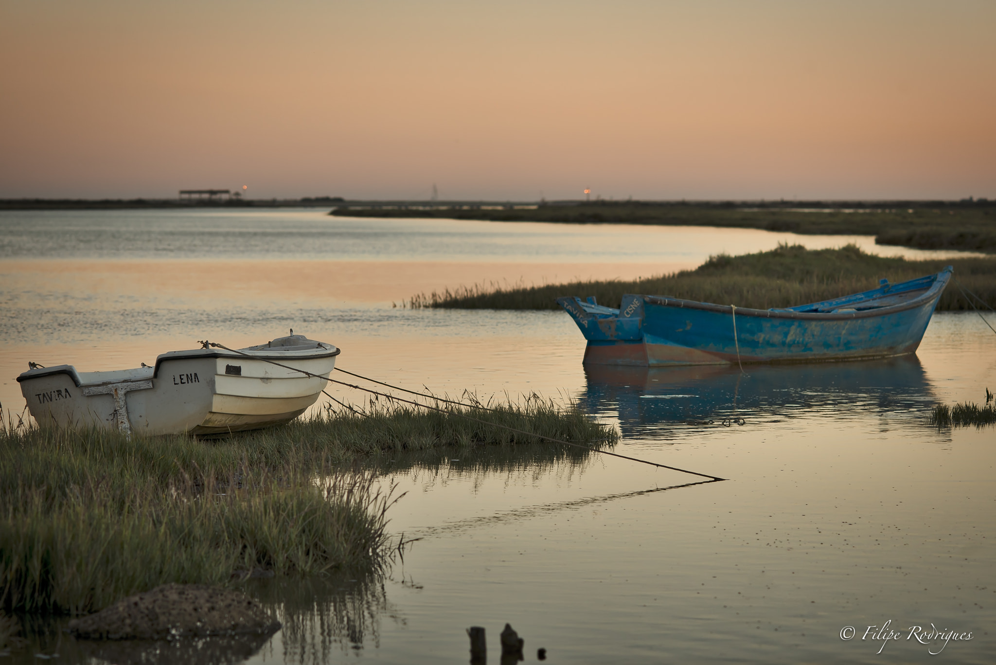
{"label": "distant flat marsh strip tapering leftward, beyond the blue boat's grassy islet", "polygon": [[[469,209],[463,209],[467,207]],[[491,206],[497,207],[497,206]],[[852,210],[852,211],[846,211]],[[330,214],[353,217],[436,217],[488,221],[546,221],[588,224],[654,224],[759,228],[805,234],[874,235],[878,244],[920,249],[996,252],[996,204],[991,201],[822,201],[768,203],[684,203],[593,201],[507,206],[340,207]]]}

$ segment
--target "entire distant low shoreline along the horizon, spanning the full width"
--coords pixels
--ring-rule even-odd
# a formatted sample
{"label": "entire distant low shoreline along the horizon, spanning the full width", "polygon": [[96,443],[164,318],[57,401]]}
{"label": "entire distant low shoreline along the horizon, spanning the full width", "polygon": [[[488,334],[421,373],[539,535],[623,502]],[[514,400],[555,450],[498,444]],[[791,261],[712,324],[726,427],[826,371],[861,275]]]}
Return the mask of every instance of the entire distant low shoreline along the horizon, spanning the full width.
{"label": "entire distant low shoreline along the horizon, spanning the full width", "polygon": [[330,208],[347,217],[757,228],[807,235],[872,235],[876,244],[996,253],[996,201],[413,201],[304,198],[6,198],[2,210]]}

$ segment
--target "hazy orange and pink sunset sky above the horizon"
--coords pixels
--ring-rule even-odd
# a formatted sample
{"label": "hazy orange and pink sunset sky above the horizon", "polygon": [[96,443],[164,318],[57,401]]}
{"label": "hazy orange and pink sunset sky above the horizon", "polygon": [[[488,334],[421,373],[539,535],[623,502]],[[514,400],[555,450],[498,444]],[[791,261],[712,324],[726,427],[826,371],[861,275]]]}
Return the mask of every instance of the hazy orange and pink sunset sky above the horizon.
{"label": "hazy orange and pink sunset sky above the horizon", "polygon": [[0,197],[996,198],[996,2],[0,0]]}

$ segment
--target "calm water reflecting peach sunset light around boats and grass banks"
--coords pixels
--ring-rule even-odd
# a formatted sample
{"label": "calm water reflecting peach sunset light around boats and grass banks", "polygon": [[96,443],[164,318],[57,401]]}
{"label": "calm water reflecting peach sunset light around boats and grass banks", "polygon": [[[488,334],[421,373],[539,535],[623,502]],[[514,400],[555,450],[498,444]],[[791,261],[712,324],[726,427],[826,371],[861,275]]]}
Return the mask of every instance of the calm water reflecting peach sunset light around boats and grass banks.
{"label": "calm water reflecting peach sunset light around boats and grass banks", "polygon": [[[23,407],[13,379],[28,360],[113,369],[294,327],[342,346],[345,369],[405,387],[578,400],[618,425],[622,454],[730,479],[539,449],[396,456],[378,462],[407,492],[391,530],[421,539],[383,577],[252,585],[285,624],[271,639],[177,651],[77,644],[42,623],[22,662],[457,663],[470,625],[498,662],[505,622],[527,661],[539,647],[555,663],[992,660],[996,437],[926,423],[936,401],[996,388],[996,335],[978,317],[935,315],[914,358],[586,373],[558,312],[390,306],[840,237],[292,210],[2,213],[0,238],[6,410]],[[862,635],[888,620],[902,638],[876,655]],[[906,634],[931,622],[973,639],[928,655],[940,644]],[[842,640],[846,626],[858,636]]]}

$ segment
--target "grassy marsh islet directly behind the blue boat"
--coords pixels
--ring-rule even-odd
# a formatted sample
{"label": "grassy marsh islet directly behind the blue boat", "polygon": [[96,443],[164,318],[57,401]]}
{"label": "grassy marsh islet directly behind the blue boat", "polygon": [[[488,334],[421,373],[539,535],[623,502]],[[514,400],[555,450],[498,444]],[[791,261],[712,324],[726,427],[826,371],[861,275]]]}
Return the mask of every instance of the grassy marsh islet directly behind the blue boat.
{"label": "grassy marsh islet directly behind the blue boat", "polygon": [[[955,277],[965,287],[996,307],[996,259],[907,261],[867,254],[853,245],[814,250],[801,245],[782,245],[756,254],[713,256],[694,270],[636,280],[576,281],[518,288],[474,285],[417,294],[406,304],[416,308],[558,309],[558,296],[594,295],[599,304],[619,307],[623,293],[644,293],[767,309],[857,293],[877,287],[881,277],[899,282],[938,272],[945,265],[953,265]],[[970,308],[953,282],[937,305],[942,311]]]}

